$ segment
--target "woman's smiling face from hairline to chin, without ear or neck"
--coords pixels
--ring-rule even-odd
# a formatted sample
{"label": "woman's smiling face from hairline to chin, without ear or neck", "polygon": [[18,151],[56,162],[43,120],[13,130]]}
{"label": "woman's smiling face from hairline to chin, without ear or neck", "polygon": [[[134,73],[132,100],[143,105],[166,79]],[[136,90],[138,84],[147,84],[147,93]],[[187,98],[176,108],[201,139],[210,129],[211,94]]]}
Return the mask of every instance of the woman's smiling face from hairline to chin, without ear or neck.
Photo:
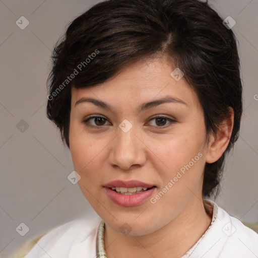
{"label": "woman's smiling face from hairline to chin, without ear or neck", "polygon": [[78,184],[116,232],[124,223],[133,235],[155,232],[202,200],[204,114],[184,78],[170,75],[174,69],[162,58],[143,59],[101,85],[72,88]]}

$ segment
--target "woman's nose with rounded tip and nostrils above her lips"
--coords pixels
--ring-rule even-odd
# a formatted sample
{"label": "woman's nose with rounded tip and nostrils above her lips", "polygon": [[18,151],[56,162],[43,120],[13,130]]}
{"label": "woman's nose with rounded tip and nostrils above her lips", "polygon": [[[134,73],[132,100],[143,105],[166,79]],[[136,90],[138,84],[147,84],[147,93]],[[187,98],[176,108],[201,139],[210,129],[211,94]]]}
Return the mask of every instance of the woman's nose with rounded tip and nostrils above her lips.
{"label": "woman's nose with rounded tip and nostrils above her lips", "polygon": [[146,162],[146,146],[137,134],[134,126],[128,132],[118,128],[118,133],[112,141],[112,149],[109,161],[112,166],[118,166],[123,170],[141,167]]}

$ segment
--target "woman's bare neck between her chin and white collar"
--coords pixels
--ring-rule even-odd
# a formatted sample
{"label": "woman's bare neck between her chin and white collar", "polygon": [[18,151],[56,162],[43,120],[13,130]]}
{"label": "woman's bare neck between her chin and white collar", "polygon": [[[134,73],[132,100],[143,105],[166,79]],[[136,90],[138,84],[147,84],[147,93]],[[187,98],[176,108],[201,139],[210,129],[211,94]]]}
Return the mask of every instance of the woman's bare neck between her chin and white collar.
{"label": "woman's bare neck between her chin and white collar", "polygon": [[195,198],[174,220],[143,236],[124,236],[105,227],[104,241],[108,258],[181,257],[205,233],[211,224],[203,202]]}

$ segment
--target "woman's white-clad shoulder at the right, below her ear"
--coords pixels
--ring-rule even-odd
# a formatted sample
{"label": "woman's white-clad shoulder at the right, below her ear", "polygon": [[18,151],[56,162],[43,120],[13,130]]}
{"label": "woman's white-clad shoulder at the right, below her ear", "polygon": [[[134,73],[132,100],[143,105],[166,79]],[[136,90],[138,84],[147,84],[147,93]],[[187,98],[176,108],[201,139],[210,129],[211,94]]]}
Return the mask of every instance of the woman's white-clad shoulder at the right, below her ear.
{"label": "woman's white-clad shoulder at the right, below her ear", "polygon": [[192,258],[257,258],[258,234],[217,207],[217,216]]}

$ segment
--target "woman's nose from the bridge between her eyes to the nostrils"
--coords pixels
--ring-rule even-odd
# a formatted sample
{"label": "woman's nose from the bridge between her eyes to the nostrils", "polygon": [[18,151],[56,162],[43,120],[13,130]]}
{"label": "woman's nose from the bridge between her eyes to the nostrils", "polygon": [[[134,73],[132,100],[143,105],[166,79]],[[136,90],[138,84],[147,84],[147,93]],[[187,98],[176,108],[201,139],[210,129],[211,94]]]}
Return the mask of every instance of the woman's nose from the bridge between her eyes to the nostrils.
{"label": "woman's nose from the bridge between her eyes to the nostrils", "polygon": [[144,164],[145,154],[136,131],[136,126],[126,119],[119,124],[111,150],[110,161],[113,165],[128,169],[135,164]]}

